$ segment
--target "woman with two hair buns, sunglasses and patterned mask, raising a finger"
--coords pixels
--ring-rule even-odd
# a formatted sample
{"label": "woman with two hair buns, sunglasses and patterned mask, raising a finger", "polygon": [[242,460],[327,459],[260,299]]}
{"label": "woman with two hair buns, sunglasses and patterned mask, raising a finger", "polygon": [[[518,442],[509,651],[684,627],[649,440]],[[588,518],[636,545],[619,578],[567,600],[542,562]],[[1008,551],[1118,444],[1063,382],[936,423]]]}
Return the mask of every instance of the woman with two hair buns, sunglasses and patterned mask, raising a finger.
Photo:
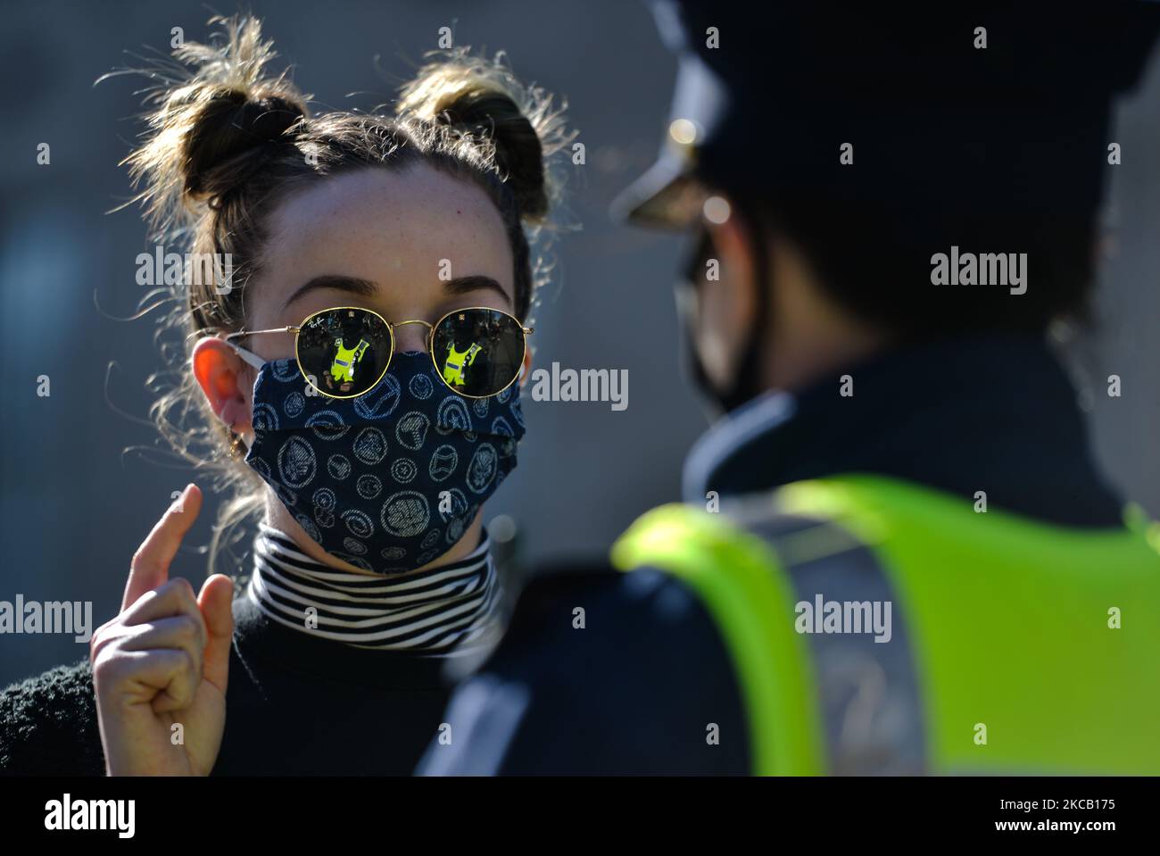
{"label": "woman with two hair buns, sunglasses and patterned mask, raising a finger", "polygon": [[168,580],[188,486],[92,672],[0,702],[9,772],[409,774],[441,733],[444,666],[500,630],[481,513],[524,433],[529,235],[560,114],[455,51],[394,116],[311,116],[263,75],[258,21],[225,23],[220,46],[175,52],[194,70],[154,93],[128,162],[161,234],[232,270],[174,295],[191,347],[157,409],[204,418],[164,425],[235,488],[227,515],[264,510],[254,565],[237,596],[222,574]]}

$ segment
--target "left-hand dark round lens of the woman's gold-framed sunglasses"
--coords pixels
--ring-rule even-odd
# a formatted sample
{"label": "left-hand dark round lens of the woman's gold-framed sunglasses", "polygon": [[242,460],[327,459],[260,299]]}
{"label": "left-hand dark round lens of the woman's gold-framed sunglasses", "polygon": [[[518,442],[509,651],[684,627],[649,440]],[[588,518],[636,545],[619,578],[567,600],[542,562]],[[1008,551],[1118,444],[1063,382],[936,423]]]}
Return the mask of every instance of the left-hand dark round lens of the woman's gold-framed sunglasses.
{"label": "left-hand dark round lens of the woman's gold-framed sunglasses", "polygon": [[378,315],[334,309],[311,315],[298,333],[298,364],[324,396],[354,398],[377,384],[391,362],[391,331]]}

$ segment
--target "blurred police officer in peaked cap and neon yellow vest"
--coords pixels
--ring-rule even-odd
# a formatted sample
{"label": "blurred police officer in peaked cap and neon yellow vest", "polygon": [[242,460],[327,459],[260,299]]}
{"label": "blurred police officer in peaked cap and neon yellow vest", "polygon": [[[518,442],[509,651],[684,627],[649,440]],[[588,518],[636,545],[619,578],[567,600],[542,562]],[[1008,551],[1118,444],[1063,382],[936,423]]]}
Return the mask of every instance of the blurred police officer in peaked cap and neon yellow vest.
{"label": "blurred police officer in peaked cap and neon yellow vest", "polygon": [[1160,772],[1160,537],[1047,343],[1158,13],[655,6],[619,208],[690,235],[724,415],[614,567],[524,590],[420,772]]}

